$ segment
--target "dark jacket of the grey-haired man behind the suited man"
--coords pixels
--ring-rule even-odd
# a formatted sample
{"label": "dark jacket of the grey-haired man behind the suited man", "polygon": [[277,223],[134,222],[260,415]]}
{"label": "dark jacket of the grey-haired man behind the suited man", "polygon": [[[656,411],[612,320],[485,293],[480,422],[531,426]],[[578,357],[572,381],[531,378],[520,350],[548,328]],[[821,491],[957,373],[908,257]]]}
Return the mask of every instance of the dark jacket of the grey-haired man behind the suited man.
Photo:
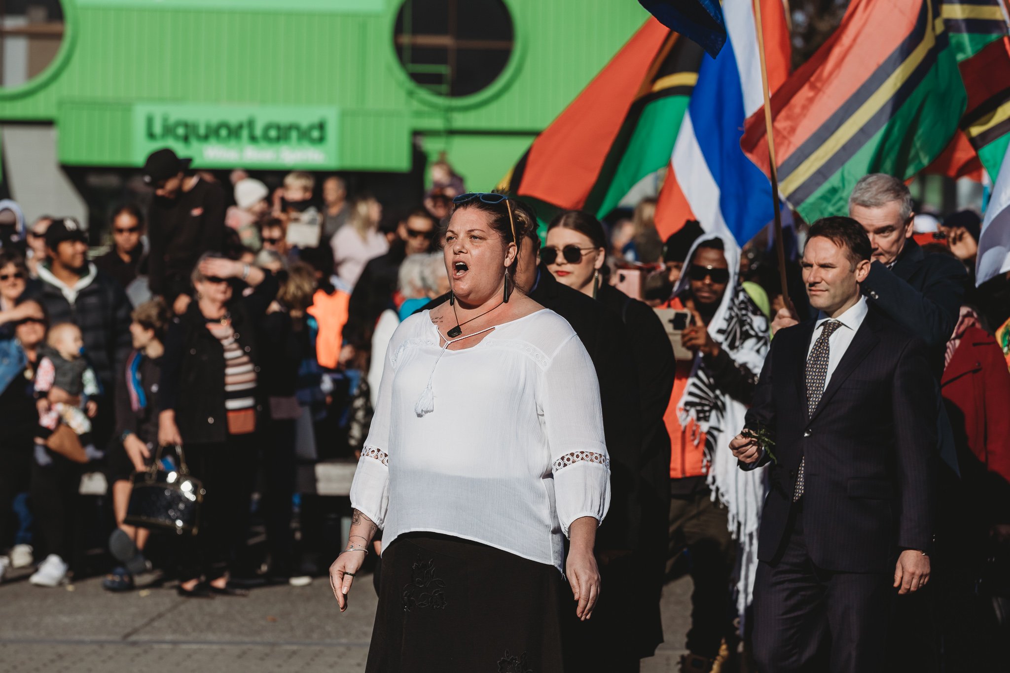
{"label": "dark jacket of the grey-haired man behind the suited man", "polygon": [[926,342],[939,378],[967,282],[963,263],[943,254],[926,254],[909,239],[890,269],[879,261],[871,264],[862,288],[872,305]]}

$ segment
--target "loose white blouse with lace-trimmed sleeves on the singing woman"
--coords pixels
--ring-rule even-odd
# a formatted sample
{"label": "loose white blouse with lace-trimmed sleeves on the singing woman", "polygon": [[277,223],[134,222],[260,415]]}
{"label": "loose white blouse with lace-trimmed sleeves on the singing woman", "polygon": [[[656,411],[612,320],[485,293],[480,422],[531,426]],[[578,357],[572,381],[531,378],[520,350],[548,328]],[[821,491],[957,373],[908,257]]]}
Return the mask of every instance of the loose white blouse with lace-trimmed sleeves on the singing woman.
{"label": "loose white blouse with lace-trimmed sleeves on the singing woman", "polygon": [[[429,381],[433,402],[419,405]],[[569,526],[610,504],[599,383],[572,327],[543,309],[447,350],[428,311],[403,321],[350,503],[384,548],[428,531],[564,572]]]}

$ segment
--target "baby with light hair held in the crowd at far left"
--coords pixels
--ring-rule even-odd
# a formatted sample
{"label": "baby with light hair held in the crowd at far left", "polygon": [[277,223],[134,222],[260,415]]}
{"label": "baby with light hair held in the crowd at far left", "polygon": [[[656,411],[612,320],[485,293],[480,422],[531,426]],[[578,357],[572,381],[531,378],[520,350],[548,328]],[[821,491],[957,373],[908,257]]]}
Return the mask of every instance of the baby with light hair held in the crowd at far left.
{"label": "baby with light hair held in the crowd at far left", "polygon": [[[35,455],[45,456],[45,438],[62,422],[81,440],[89,460],[97,460],[103,453],[95,448],[91,439],[91,419],[98,413],[98,377],[84,357],[84,340],[81,329],[73,323],[54,325],[45,340],[44,357],[35,373],[35,397],[38,409],[38,432],[35,438]],[[65,403],[52,403],[49,390],[60,387],[73,397],[83,396],[81,407]],[[47,458],[44,459],[47,462]],[[39,460],[42,464],[42,460]]]}

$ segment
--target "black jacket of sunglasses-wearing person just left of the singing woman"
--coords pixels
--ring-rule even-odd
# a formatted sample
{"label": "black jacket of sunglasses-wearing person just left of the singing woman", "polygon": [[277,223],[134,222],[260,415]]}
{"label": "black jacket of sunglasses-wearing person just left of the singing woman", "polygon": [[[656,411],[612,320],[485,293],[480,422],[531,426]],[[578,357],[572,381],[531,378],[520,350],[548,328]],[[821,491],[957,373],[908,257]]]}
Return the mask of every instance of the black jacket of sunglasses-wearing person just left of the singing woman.
{"label": "black jacket of sunglasses-wearing person just left of the singing woman", "polygon": [[347,324],[343,338],[358,348],[372,343],[372,332],[379,316],[393,306],[393,293],[399,285],[400,264],[407,258],[406,245],[397,240],[386,254],[370,259],[355,284],[347,304]]}

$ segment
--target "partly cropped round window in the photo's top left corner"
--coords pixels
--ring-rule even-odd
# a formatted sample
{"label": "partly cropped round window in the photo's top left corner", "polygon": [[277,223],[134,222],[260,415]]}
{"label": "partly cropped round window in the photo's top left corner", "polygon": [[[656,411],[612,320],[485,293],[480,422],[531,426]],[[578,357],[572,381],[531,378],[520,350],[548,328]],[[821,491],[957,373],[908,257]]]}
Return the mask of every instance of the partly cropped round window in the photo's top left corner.
{"label": "partly cropped round window in the photo's top left corner", "polygon": [[60,0],[0,2],[0,88],[40,75],[56,59],[64,32]]}

